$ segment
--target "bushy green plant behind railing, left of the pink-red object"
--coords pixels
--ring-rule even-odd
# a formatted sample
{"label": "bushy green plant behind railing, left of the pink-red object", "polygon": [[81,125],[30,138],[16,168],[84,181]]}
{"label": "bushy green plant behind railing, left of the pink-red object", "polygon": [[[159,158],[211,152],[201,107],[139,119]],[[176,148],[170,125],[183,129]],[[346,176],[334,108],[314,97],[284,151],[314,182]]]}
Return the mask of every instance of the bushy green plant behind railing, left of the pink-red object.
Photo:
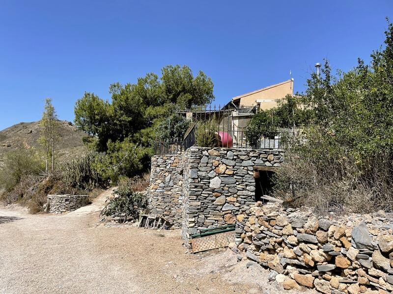
{"label": "bushy green plant behind railing, left of the pink-red object", "polygon": [[217,147],[218,124],[214,118],[197,122],[195,129],[195,143],[199,147]]}

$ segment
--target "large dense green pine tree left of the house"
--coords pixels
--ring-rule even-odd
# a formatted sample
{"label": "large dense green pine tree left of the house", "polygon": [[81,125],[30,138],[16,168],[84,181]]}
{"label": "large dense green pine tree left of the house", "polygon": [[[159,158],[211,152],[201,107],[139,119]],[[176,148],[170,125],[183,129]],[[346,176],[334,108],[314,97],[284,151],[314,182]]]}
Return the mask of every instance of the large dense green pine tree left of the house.
{"label": "large dense green pine tree left of the house", "polygon": [[[213,82],[203,72],[194,76],[187,66],[166,66],[161,78],[155,73],[136,84],[110,86],[112,101],[84,93],[75,105],[75,124],[93,138],[85,143],[106,152],[107,177],[133,176],[149,166],[153,141],[181,137],[188,123],[176,111],[212,101]],[[170,123],[169,123],[170,120]],[[170,129],[169,127],[170,126]]]}

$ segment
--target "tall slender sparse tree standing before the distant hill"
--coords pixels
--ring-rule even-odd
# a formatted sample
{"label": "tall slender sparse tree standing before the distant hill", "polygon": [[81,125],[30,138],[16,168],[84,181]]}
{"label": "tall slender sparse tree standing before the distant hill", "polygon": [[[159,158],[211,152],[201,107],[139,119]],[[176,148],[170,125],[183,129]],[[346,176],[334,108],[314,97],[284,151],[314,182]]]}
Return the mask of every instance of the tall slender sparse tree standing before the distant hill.
{"label": "tall slender sparse tree standing before the distant hill", "polygon": [[39,142],[45,150],[45,172],[49,171],[49,160],[51,161],[51,171],[53,172],[55,169],[55,145],[58,138],[59,123],[51,98],[45,99],[44,112],[39,125],[41,132]]}

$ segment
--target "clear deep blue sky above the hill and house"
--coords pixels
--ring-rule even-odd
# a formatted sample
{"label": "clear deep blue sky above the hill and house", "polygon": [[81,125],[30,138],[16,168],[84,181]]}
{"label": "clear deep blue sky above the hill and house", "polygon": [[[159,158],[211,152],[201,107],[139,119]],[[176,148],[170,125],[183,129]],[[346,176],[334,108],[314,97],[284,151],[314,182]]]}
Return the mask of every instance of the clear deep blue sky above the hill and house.
{"label": "clear deep blue sky above the hill and house", "polygon": [[302,92],[325,57],[344,71],[369,61],[386,16],[391,0],[0,0],[0,129],[39,120],[46,97],[72,121],[84,91],[110,98],[111,83],[168,64],[209,75],[217,104],[289,71]]}

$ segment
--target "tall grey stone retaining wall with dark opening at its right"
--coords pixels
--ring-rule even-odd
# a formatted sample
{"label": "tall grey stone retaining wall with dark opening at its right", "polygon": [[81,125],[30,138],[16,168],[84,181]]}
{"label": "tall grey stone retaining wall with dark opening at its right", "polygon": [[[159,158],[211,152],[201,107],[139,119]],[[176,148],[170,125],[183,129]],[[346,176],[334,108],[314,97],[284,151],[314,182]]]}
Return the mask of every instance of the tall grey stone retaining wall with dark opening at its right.
{"label": "tall grey stone retaining wall with dark opening at its right", "polygon": [[198,229],[235,223],[255,203],[255,167],[280,167],[283,154],[250,148],[190,147],[184,154],[182,236]]}

